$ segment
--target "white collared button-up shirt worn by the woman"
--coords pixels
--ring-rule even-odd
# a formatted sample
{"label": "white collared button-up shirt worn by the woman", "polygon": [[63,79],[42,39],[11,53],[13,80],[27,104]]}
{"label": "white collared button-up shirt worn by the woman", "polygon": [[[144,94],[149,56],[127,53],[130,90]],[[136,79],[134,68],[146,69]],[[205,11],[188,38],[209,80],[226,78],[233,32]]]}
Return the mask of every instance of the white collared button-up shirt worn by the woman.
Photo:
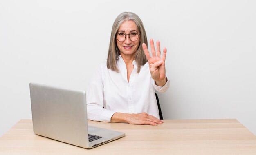
{"label": "white collared button-up shirt worn by the woman", "polygon": [[119,55],[117,68],[119,72],[107,68],[106,61],[97,68],[86,91],[88,119],[110,122],[112,115],[120,113],[143,113],[159,118],[155,90],[164,92],[170,85],[155,85],[151,78],[148,62],[137,73],[137,64],[127,80],[126,64]]}

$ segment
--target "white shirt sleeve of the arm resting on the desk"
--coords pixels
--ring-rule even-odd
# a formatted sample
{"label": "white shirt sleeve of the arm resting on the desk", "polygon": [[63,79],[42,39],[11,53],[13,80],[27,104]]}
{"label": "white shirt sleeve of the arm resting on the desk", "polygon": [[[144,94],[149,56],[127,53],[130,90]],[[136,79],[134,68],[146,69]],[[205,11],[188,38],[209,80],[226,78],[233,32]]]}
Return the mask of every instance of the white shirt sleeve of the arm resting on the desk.
{"label": "white shirt sleeve of the arm resting on the desk", "polygon": [[87,117],[89,120],[111,122],[111,117],[115,111],[103,108],[103,80],[102,64],[99,65],[92,76],[86,91]]}

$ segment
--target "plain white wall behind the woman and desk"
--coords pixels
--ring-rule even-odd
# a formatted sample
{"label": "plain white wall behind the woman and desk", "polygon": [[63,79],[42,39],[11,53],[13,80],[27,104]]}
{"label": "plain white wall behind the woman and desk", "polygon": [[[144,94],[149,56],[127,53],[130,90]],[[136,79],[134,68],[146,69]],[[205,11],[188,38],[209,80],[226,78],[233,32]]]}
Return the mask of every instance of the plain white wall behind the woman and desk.
{"label": "plain white wall behind the woman and desk", "polygon": [[0,0],[0,136],[31,119],[29,82],[86,90],[132,11],[167,47],[165,119],[236,118],[256,134],[256,1]]}

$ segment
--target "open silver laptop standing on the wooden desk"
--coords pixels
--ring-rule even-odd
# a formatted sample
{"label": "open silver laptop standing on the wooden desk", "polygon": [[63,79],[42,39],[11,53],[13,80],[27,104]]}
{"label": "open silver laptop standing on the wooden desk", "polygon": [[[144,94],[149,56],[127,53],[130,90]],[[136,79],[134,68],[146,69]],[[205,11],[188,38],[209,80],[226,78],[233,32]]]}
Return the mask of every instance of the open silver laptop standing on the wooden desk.
{"label": "open silver laptop standing on the wooden desk", "polygon": [[88,126],[85,91],[30,83],[34,133],[83,148],[111,142],[125,133]]}

